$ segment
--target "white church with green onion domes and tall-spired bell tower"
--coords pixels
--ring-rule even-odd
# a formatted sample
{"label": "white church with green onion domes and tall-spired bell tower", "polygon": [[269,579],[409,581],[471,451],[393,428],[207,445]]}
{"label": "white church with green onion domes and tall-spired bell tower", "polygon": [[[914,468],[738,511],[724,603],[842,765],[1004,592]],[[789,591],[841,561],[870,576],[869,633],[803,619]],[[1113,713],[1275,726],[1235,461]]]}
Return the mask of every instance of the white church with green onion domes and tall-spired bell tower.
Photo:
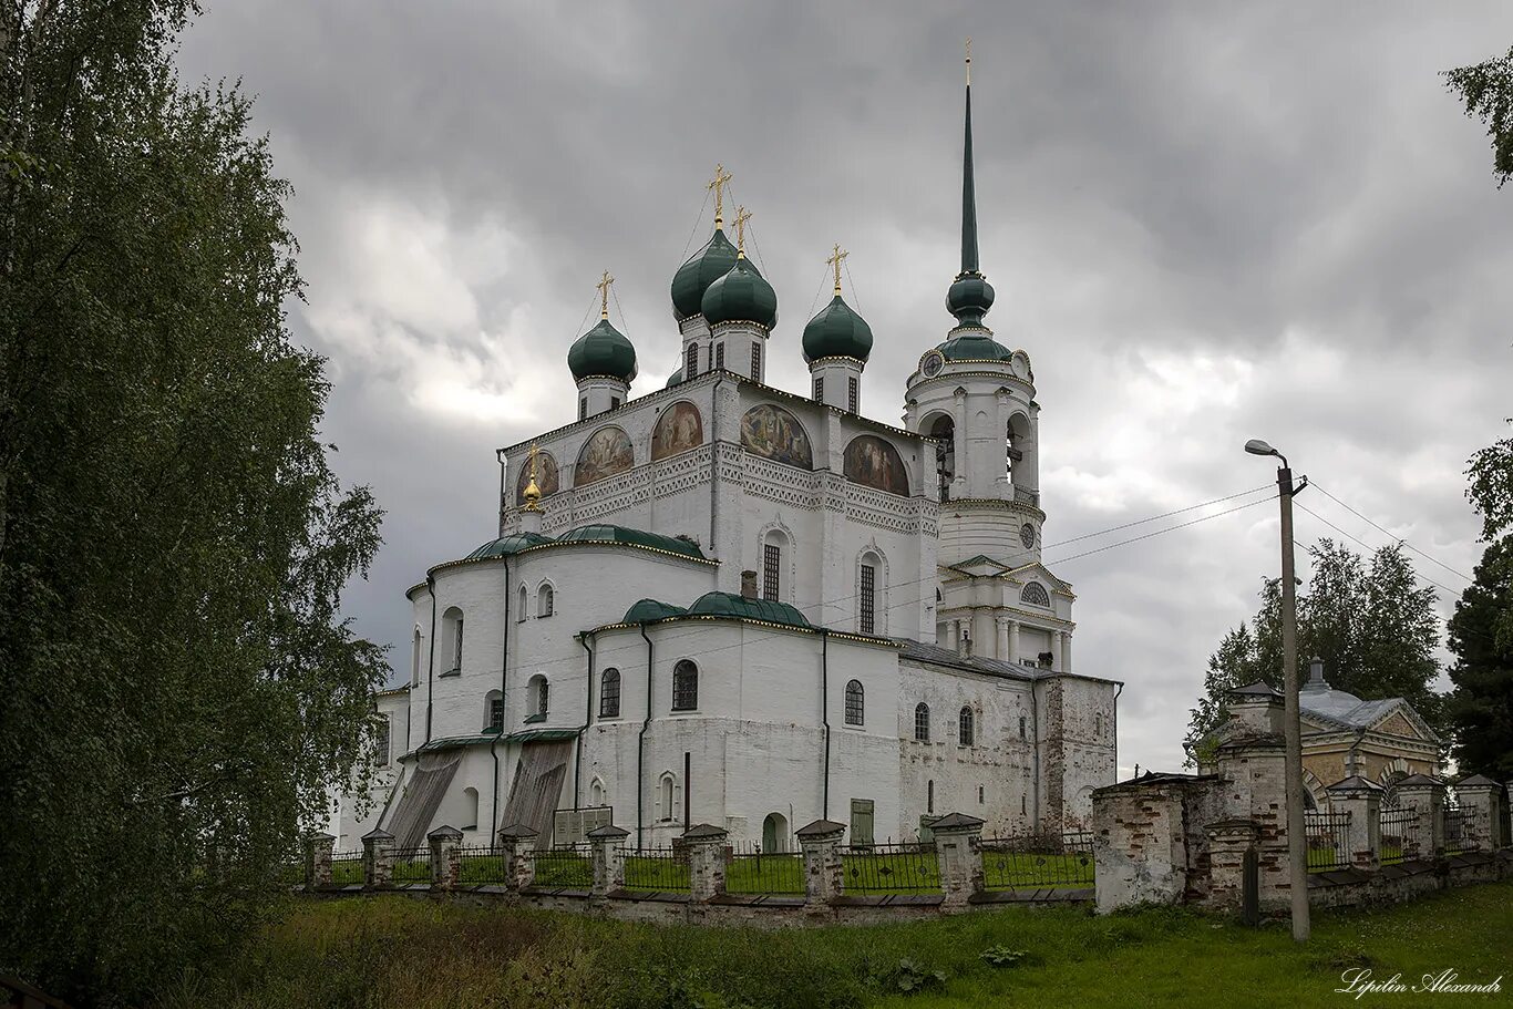
{"label": "white church with green onion domes and tall-spired bell tower", "polygon": [[[339,847],[437,826],[487,844],[614,823],[637,847],[688,826],[790,850],[828,818],[852,844],[1083,826],[1115,781],[1120,682],[1073,658],[1071,585],[1041,563],[1039,402],[1023,349],[983,321],[967,89],[956,325],[921,348],[903,425],[864,413],[868,324],[835,295],[794,346],[723,231],[672,278],[681,366],[629,396],[608,319],[567,351],[578,419],[501,449],[498,537],[407,593],[407,685],[372,808]],[[607,292],[610,277],[601,281]],[[802,352],[803,395],[766,381]]]}

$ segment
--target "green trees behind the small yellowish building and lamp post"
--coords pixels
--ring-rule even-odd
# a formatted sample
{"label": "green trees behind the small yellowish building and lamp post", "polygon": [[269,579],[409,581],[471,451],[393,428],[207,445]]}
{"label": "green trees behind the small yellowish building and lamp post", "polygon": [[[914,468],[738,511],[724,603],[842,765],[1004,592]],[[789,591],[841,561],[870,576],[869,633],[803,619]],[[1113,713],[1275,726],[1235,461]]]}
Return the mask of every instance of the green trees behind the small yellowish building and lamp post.
{"label": "green trees behind the small yellowish building and lamp post", "polygon": [[[1319,540],[1309,557],[1312,576],[1307,591],[1298,593],[1298,675],[1306,676],[1309,658],[1321,658],[1336,690],[1363,700],[1406,697],[1430,725],[1443,728],[1443,699],[1433,690],[1439,676],[1434,590],[1419,585],[1403,546],[1384,546],[1366,563],[1344,545]],[[1229,720],[1229,691],[1256,681],[1282,687],[1275,578],[1262,582],[1254,620],[1226,634],[1209,657],[1203,696],[1188,719],[1189,765],[1210,755],[1213,731]]]}

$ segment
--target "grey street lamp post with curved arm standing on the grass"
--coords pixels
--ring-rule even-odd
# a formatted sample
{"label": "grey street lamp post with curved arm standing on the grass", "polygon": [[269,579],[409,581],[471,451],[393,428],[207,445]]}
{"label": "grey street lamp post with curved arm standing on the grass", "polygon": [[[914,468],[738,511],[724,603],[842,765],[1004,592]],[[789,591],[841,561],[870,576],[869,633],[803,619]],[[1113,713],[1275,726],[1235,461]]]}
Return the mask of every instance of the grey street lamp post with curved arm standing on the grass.
{"label": "grey street lamp post with curved arm standing on the grass", "polygon": [[1282,502],[1282,734],[1286,741],[1283,782],[1288,790],[1288,882],[1292,891],[1292,938],[1309,938],[1309,855],[1303,826],[1303,722],[1298,716],[1298,582],[1292,566],[1292,486],[1288,457],[1260,439],[1245,442],[1251,455],[1275,455],[1277,499]]}

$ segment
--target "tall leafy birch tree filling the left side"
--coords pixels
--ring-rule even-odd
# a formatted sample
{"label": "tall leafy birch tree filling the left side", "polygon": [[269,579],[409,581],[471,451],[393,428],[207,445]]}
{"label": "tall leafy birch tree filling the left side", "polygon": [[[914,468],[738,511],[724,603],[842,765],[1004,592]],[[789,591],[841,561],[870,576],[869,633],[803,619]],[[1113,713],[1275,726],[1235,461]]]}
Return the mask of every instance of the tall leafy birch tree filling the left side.
{"label": "tall leafy birch tree filling the left side", "polygon": [[256,923],[360,764],[378,647],[290,345],[289,186],[186,0],[0,12],[0,973],[133,1000]]}

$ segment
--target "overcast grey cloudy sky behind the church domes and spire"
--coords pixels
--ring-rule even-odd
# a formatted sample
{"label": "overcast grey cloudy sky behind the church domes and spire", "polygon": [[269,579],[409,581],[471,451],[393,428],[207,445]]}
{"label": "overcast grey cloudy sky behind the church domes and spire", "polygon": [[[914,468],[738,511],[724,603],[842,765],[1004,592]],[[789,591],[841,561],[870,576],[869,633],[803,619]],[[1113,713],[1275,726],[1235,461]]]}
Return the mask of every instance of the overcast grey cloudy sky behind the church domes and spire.
{"label": "overcast grey cloudy sky behind the church domes and spire", "polygon": [[[1127,684],[1121,771],[1180,764],[1206,658],[1277,570],[1274,505],[1053,545],[1266,484],[1241,452],[1265,437],[1449,567],[1480,555],[1463,469],[1513,413],[1513,192],[1437,74],[1505,51],[1513,6],[207,8],[180,64],[259,95],[297,189],[290,325],[330,357],[342,478],[387,510],[346,598],[374,640],[405,637],[428,564],[492,537],[495,446],[573,419],[602,269],[632,395],[676,368],[667,284],[717,160],[779,296],[769,380],[808,389],[797,337],[841,242],[876,334],[864,405],[897,422],[952,324],[967,35],[988,322],[1035,363],[1045,557],[1079,596],[1077,669]],[[1421,573],[1448,614],[1465,579]]]}

